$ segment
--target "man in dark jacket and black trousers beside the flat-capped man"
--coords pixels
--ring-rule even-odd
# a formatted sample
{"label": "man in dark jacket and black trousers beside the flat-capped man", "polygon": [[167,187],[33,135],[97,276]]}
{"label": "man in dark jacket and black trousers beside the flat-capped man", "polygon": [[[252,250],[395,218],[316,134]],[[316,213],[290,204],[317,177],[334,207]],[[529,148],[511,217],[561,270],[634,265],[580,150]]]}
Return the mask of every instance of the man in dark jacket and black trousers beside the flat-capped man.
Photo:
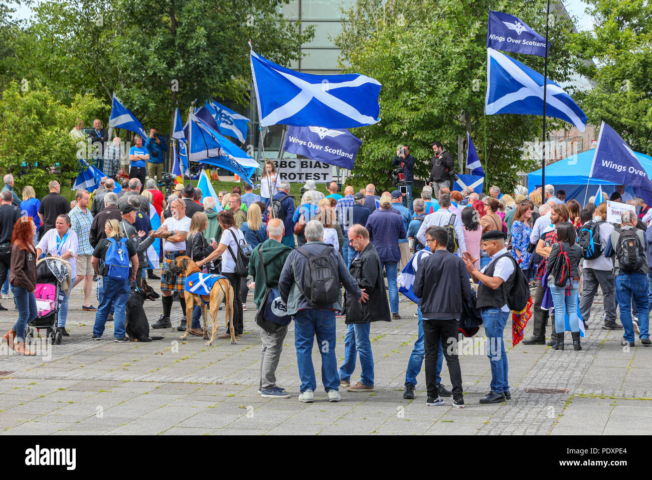
{"label": "man in dark jacket and black trousers beside the flat-capped man", "polygon": [[432,255],[421,260],[412,285],[414,295],[421,298],[428,389],[426,405],[444,404],[444,400],[439,396],[436,380],[441,343],[451,376],[452,405],[464,408],[457,342],[462,301],[471,294],[469,276],[466,274],[464,260],[447,251],[448,233],[442,227],[430,227],[426,231],[426,242],[432,250]]}

